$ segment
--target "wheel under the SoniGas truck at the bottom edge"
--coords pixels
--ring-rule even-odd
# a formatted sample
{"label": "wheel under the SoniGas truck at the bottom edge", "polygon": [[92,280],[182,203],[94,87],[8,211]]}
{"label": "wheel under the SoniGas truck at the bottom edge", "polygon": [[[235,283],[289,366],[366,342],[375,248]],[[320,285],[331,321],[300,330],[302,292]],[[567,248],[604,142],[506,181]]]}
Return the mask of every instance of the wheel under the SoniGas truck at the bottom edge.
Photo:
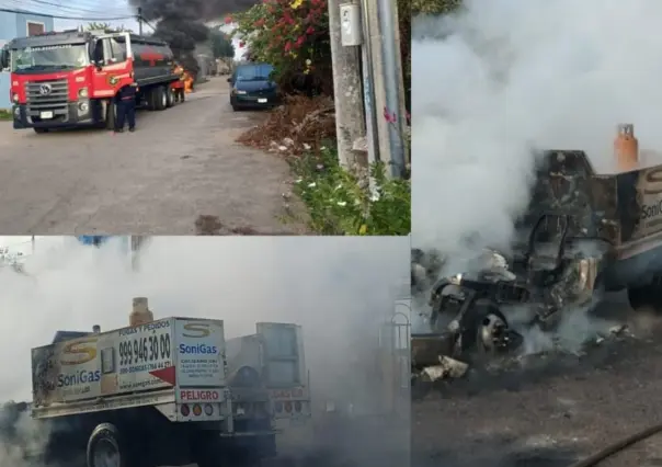
{"label": "wheel under the SoniGas truck at the bottom edge", "polygon": [[88,441],[88,467],[141,467],[117,426],[101,423]]}

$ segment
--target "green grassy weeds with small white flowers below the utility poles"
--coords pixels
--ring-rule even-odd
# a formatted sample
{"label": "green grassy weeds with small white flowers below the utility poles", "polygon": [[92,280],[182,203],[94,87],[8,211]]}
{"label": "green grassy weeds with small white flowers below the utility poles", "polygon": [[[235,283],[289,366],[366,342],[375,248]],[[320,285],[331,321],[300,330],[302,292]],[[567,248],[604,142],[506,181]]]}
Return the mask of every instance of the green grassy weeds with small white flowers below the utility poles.
{"label": "green grassy weeds with small white flowers below the utility poles", "polygon": [[[297,176],[294,191],[308,208],[307,224],[319,235],[406,236],[411,231],[411,185],[408,180],[390,180],[386,167],[355,175],[338,162],[331,145],[317,153],[289,159]],[[301,219],[293,219],[301,221]]]}

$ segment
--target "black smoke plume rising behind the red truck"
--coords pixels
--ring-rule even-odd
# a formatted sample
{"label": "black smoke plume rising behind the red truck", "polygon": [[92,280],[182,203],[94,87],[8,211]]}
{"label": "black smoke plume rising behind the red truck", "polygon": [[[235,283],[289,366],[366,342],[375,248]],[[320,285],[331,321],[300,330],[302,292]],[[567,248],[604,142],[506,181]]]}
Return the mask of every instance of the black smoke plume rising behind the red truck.
{"label": "black smoke plume rising behind the red truck", "polygon": [[244,11],[259,0],[129,0],[140,9],[144,20],[156,29],[153,35],[166,41],[175,58],[189,70],[197,73],[196,44],[207,41],[207,21],[218,21],[226,14]]}

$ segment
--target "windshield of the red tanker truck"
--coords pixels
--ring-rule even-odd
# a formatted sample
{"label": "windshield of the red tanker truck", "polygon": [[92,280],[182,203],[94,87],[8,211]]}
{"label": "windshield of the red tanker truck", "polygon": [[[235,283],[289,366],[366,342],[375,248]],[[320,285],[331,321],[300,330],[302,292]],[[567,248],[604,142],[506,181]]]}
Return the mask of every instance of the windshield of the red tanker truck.
{"label": "windshield of the red tanker truck", "polygon": [[18,73],[82,68],[89,62],[84,44],[26,47],[11,52],[11,70]]}

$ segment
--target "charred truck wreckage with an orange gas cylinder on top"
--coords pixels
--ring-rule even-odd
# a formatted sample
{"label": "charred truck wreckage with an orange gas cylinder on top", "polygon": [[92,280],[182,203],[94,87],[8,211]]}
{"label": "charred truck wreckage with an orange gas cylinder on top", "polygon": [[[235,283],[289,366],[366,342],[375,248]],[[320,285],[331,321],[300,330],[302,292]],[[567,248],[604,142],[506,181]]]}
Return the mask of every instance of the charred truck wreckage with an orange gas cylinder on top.
{"label": "charred truck wreckage with an orange gas cylinder on top", "polygon": [[[631,125],[619,127],[615,156],[619,170],[597,173],[581,150],[540,155],[507,252],[486,250],[466,271],[432,285],[423,264],[431,261],[412,252],[412,287],[426,289],[437,337],[412,334],[413,374],[432,364],[431,346],[449,356],[517,350],[523,337],[512,326],[513,310],[527,310],[520,326],[553,331],[566,314],[593,307],[604,292],[626,289],[634,309],[662,306],[662,164],[640,157]],[[436,277],[447,273],[434,269]]]}

